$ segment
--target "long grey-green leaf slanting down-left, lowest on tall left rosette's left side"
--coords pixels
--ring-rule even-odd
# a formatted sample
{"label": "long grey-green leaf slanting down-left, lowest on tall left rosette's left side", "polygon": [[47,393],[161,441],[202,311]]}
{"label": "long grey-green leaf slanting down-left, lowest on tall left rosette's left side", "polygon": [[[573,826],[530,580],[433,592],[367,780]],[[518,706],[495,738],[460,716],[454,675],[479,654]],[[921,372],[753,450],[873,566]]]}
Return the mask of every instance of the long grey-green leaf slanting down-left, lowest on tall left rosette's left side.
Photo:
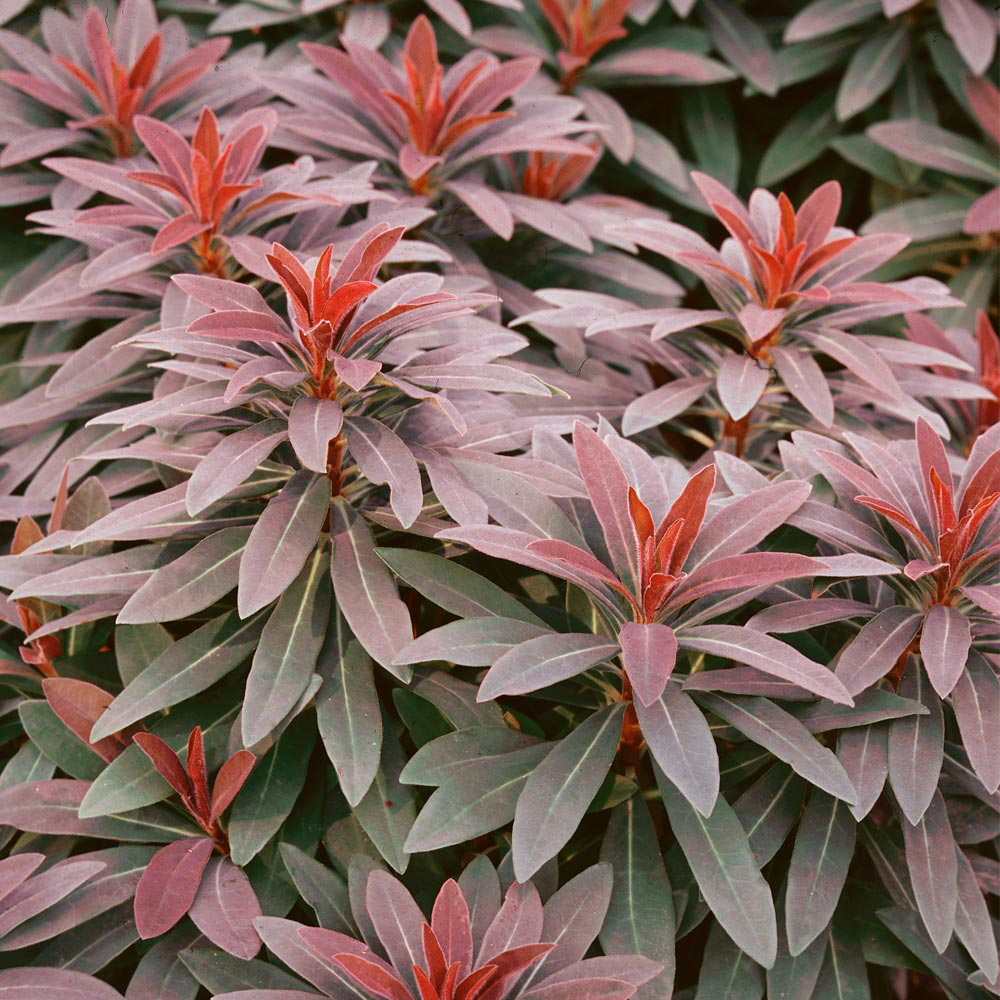
{"label": "long grey-green leaf slanting down-left, lowest on tall left rosette's left side", "polygon": [[101,740],[154,712],[171,708],[235,670],[260,636],[263,620],[220,615],[168,646],[108,706],[90,734]]}

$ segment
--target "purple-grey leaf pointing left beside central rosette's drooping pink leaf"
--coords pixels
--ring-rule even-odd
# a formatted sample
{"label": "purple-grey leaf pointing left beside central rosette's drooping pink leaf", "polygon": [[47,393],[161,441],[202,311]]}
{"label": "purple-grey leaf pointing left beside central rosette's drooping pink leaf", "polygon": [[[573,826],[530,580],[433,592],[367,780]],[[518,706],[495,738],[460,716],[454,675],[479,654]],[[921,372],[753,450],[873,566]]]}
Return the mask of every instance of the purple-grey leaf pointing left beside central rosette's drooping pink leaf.
{"label": "purple-grey leaf pointing left beside central rosette's drooping pink leaf", "polygon": [[525,694],[576,677],[618,652],[601,636],[549,632],[528,639],[496,660],[479,685],[476,701]]}

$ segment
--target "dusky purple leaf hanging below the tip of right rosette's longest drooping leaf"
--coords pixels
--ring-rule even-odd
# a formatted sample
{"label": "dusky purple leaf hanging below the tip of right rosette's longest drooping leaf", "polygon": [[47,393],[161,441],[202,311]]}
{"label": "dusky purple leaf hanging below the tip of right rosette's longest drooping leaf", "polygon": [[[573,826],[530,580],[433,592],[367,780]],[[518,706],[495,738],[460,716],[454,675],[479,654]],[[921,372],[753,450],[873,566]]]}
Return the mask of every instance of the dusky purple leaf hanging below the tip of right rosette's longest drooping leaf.
{"label": "dusky purple leaf hanging below the tip of right rosette's longest drooping leaf", "polygon": [[941,793],[935,789],[916,824],[903,820],[902,827],[917,909],[940,954],[951,940],[958,907],[958,846]]}

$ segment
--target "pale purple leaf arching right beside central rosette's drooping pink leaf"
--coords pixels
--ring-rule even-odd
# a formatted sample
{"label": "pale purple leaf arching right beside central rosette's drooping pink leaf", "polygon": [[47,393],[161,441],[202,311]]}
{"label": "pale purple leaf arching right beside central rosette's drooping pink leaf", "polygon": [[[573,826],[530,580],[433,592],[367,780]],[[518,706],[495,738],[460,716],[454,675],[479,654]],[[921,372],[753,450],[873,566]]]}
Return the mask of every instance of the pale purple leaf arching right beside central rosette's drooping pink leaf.
{"label": "pale purple leaf arching right beside central rosette's drooping pink leaf", "polygon": [[678,632],[677,640],[682,649],[745,663],[838,705],[854,704],[847,689],[826,667],[769,635],[737,625],[701,625]]}

